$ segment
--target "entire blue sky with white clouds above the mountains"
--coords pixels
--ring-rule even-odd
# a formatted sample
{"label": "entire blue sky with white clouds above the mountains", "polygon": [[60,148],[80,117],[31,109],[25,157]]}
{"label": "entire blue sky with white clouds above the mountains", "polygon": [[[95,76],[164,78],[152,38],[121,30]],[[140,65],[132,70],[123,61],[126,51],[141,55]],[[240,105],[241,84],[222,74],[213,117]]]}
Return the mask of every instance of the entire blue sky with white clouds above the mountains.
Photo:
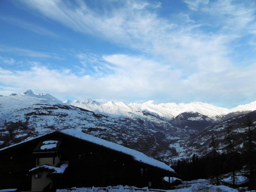
{"label": "entire blue sky with white clouds above the mountains", "polygon": [[232,108],[255,85],[255,0],[0,1],[0,95]]}

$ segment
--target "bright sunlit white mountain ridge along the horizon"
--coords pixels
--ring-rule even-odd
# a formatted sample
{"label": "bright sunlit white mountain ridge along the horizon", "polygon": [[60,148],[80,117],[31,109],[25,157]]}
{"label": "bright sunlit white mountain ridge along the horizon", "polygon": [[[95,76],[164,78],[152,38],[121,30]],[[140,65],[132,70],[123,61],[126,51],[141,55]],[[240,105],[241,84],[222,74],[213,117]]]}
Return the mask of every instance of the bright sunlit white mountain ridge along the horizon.
{"label": "bright sunlit white mountain ridge along the horizon", "polygon": [[[214,106],[206,102],[191,102],[191,103],[160,103],[156,104],[155,101],[149,100],[144,103],[129,103],[108,101],[106,103],[98,102],[91,99],[83,101],[64,101],[76,107],[92,110],[100,113],[105,113],[113,117],[130,116],[131,113],[137,114],[141,111],[147,111],[152,115],[163,117],[167,120],[173,120],[176,116],[184,112],[198,113],[211,118],[213,122],[220,121],[222,118],[229,114],[236,116],[238,112],[250,112],[256,110],[256,101],[239,105],[236,108],[228,109]],[[225,117],[224,117],[225,118]]]}

